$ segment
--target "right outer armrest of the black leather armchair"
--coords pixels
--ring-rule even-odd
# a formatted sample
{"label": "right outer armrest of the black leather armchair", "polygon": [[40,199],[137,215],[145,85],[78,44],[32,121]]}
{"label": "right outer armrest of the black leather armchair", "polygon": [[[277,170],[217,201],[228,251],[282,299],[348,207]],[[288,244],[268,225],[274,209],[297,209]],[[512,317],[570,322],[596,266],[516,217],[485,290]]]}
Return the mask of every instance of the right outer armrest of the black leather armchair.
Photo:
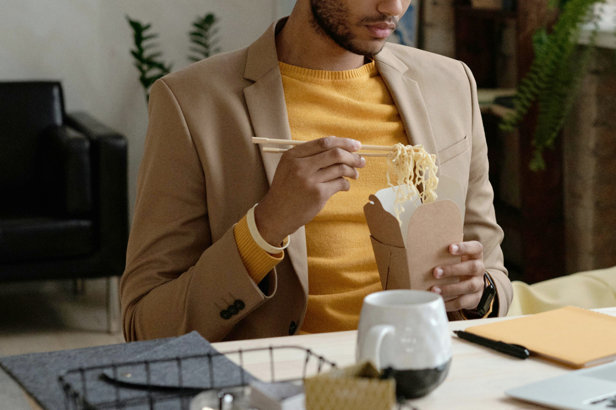
{"label": "right outer armrest of the black leather armchair", "polygon": [[128,143],[86,112],[67,114],[65,122],[91,143],[92,196],[102,261],[110,274],[121,275],[128,244]]}

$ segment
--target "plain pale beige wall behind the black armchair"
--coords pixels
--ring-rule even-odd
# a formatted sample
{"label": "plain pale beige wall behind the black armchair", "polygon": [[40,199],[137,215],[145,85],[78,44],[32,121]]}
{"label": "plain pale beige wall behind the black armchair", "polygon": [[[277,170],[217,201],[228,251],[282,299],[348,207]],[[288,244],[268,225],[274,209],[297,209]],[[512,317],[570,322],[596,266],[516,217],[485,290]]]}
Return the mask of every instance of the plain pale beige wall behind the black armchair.
{"label": "plain pale beige wall behind the black armchair", "polygon": [[152,22],[174,69],[188,64],[197,15],[220,18],[222,51],[245,47],[278,14],[276,0],[0,0],[0,81],[60,79],[67,111],[86,110],[129,141],[129,208],[147,129],[124,15]]}

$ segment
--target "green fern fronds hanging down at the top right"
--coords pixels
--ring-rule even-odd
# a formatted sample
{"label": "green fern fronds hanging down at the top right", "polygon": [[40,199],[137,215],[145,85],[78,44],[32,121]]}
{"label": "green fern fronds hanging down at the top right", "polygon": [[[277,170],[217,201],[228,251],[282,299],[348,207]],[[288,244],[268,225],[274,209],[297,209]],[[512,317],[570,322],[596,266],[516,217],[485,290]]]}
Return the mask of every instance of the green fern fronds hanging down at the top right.
{"label": "green fern fronds hanging down at the top right", "polygon": [[[593,5],[606,0],[550,0],[550,7],[559,7],[559,17],[548,32],[541,28],[533,36],[535,58],[529,73],[517,86],[514,112],[500,124],[511,131],[536,102],[537,128],[533,138],[535,152],[529,167],[533,171],[545,169],[543,150],[553,148],[588,68],[598,33],[598,15]],[[588,47],[578,49],[580,25],[594,23]]]}

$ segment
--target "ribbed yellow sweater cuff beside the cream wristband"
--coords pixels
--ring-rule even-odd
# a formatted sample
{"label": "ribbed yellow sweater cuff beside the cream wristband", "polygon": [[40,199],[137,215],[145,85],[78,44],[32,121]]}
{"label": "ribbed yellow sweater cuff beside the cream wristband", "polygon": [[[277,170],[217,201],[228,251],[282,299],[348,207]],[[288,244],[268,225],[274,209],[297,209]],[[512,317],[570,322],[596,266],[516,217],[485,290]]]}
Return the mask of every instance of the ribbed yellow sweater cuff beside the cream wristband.
{"label": "ribbed yellow sweater cuff beside the cream wristband", "polygon": [[253,236],[248,229],[246,215],[233,227],[233,235],[235,236],[235,245],[237,245],[241,261],[246,267],[248,275],[257,285],[285,256],[285,251],[275,255],[267,253],[254,242]]}

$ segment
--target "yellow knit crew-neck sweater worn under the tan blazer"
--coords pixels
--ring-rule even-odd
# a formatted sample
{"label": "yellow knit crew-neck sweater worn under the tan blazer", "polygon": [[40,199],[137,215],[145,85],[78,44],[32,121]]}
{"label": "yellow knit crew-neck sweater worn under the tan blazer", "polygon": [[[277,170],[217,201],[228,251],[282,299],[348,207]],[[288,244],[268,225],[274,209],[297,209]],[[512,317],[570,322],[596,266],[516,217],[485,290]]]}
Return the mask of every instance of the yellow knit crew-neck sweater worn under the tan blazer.
{"label": "yellow knit crew-neck sweater worn under the tan blazer", "polygon": [[[348,71],[317,71],[280,63],[293,140],[323,136],[363,144],[408,144],[399,112],[374,61]],[[270,154],[275,155],[275,154]],[[338,192],[306,225],[309,297],[301,333],[357,329],[363,298],[381,290],[370,231],[368,195],[387,186],[387,161],[367,158],[351,190]],[[282,259],[260,250],[245,218],[235,227],[240,256],[259,282]]]}

